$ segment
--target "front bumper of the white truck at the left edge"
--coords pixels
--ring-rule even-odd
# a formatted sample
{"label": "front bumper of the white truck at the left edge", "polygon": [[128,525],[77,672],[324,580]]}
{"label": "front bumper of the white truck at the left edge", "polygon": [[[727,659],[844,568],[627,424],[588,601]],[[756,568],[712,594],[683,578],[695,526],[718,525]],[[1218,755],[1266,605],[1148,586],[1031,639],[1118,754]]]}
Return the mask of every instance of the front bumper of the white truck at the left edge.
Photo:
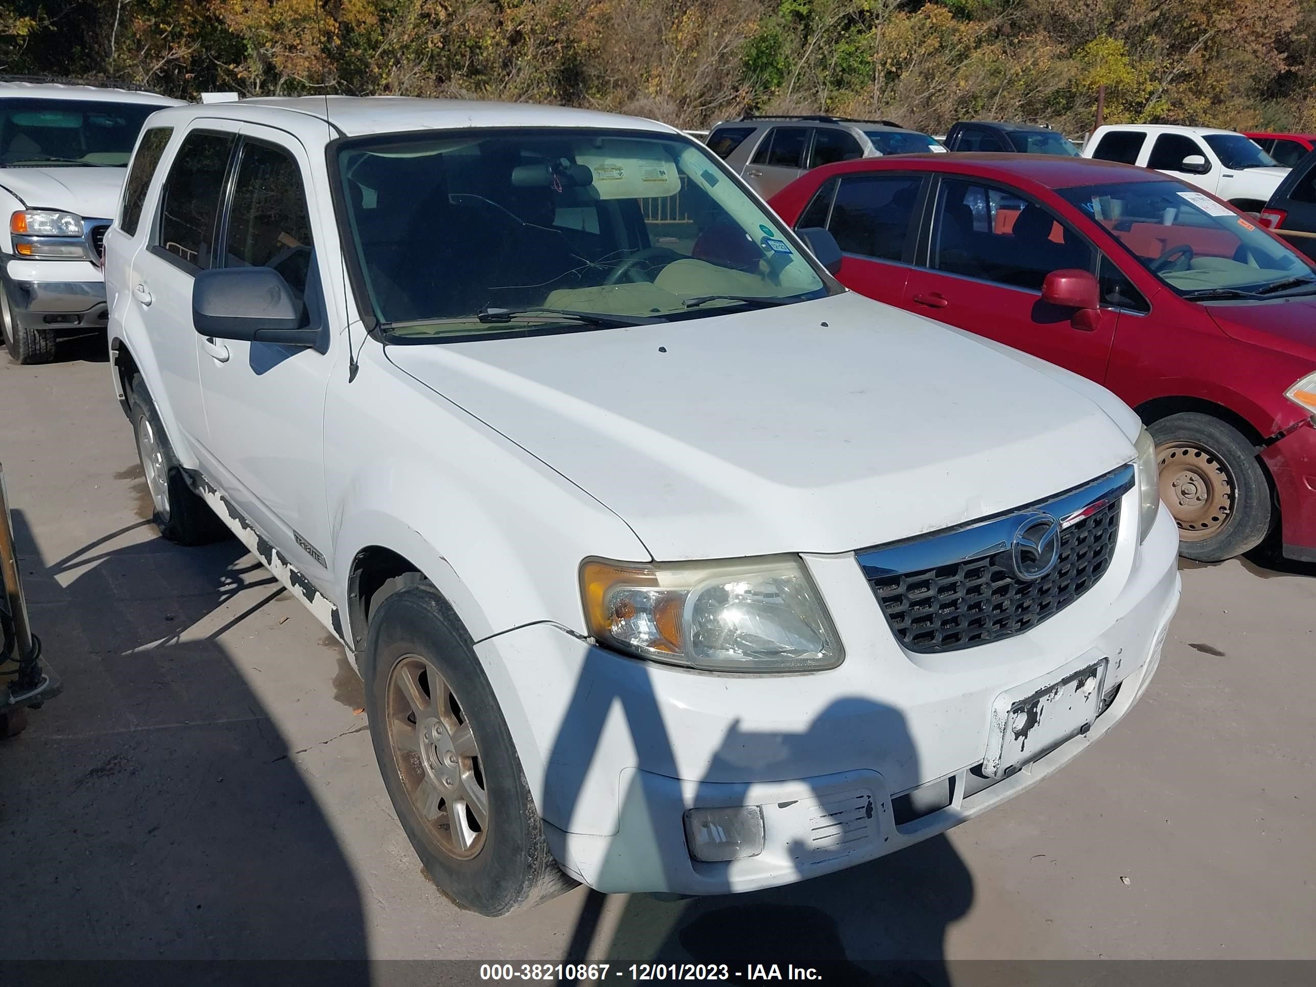
{"label": "front bumper of the white truck at the left edge", "polygon": [[105,282],[87,261],[18,261],[4,265],[9,311],[28,329],[80,333],[109,321]]}

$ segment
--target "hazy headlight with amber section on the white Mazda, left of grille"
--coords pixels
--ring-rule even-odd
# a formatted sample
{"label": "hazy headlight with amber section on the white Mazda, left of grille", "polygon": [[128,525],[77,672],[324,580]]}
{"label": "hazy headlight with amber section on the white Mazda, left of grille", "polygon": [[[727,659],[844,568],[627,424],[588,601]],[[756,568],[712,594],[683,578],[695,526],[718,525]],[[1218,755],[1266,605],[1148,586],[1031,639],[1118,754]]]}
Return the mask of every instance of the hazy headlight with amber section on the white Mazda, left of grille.
{"label": "hazy headlight with amber section on the white Mazda, left of grille", "polygon": [[845,657],[795,555],[630,565],[587,559],[590,633],[619,651],[708,671],[817,671]]}

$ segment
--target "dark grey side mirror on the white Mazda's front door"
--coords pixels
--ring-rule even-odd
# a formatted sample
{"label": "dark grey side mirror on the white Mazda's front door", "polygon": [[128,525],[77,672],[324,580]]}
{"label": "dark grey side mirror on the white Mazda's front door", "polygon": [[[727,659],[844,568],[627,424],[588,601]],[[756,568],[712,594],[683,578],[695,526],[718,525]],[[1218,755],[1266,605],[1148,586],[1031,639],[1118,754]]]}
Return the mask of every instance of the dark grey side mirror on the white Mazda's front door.
{"label": "dark grey side mirror on the white Mazda's front door", "polygon": [[271,267],[222,267],[192,282],[192,325],[201,336],[284,346],[315,346],[305,307]]}

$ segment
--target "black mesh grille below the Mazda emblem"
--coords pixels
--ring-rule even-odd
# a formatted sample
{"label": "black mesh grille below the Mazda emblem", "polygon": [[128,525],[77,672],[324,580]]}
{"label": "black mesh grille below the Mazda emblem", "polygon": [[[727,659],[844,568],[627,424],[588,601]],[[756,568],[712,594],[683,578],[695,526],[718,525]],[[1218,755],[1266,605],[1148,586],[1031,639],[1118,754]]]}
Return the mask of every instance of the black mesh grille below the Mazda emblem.
{"label": "black mesh grille below the Mazda emblem", "polygon": [[936,654],[1021,634],[1091,590],[1111,565],[1120,530],[1112,496],[1061,532],[1059,559],[1026,582],[998,563],[1004,553],[909,572],[865,572],[891,630],[911,651]]}

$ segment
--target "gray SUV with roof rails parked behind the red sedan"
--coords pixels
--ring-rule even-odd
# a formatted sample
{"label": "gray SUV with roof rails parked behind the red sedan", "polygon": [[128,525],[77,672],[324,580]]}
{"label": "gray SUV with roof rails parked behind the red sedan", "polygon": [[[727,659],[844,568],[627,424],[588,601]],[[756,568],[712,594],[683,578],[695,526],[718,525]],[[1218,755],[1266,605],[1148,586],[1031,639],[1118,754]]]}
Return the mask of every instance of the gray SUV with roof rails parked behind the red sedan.
{"label": "gray SUV with roof rails parked behind the red sedan", "polygon": [[820,164],[946,150],[890,120],[830,116],[741,117],[716,124],[707,143],[765,199]]}

